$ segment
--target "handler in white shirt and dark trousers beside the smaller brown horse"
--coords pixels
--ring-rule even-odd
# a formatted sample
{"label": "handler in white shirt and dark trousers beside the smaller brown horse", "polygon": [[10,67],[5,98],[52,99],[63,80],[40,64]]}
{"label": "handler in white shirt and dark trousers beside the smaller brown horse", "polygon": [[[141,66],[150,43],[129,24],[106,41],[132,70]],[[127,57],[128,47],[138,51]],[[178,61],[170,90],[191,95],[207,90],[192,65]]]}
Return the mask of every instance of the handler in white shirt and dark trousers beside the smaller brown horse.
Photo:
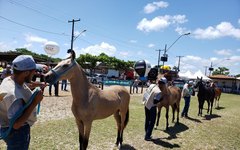
{"label": "handler in white shirt and dark trousers beside the smaller brown horse", "polygon": [[144,140],[152,139],[152,130],[156,121],[157,103],[162,99],[159,84],[152,83],[143,95],[145,109],[145,137]]}

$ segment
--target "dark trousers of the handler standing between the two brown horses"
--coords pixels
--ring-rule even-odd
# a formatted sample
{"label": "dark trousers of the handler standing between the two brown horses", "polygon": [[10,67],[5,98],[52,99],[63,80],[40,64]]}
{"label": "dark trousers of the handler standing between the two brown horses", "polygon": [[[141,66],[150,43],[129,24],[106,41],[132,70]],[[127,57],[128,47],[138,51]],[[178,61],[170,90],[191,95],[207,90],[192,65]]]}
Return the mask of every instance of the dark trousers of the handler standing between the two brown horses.
{"label": "dark trousers of the handler standing between the two brown horses", "polygon": [[145,138],[150,138],[156,121],[157,107],[153,106],[150,110],[145,107]]}

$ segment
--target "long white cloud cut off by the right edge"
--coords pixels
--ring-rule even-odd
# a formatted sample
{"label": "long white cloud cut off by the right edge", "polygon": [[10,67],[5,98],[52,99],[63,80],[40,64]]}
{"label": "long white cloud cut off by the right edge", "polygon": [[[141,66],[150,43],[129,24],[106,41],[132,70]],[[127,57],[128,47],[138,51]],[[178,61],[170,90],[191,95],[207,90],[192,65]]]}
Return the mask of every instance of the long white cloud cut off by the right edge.
{"label": "long white cloud cut off by the right edge", "polygon": [[215,27],[209,26],[206,29],[198,28],[192,34],[197,39],[217,39],[227,36],[240,39],[240,29],[229,22],[221,22]]}

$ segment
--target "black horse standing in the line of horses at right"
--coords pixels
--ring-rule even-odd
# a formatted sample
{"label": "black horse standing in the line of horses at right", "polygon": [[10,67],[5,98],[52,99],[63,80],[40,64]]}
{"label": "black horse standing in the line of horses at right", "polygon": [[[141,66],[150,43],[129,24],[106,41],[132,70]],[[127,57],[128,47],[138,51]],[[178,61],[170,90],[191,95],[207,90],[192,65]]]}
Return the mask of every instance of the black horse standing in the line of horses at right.
{"label": "black horse standing in the line of horses at right", "polygon": [[[202,116],[202,109],[204,105],[204,101],[207,100],[208,103],[208,111],[209,113],[209,107],[210,108],[210,115],[212,115],[212,107],[213,107],[213,102],[214,102],[214,97],[215,97],[215,91],[214,88],[212,87],[205,87],[203,84],[202,78],[197,78],[197,83],[194,86],[194,88],[198,87],[198,116]],[[210,106],[211,105],[211,106]]]}

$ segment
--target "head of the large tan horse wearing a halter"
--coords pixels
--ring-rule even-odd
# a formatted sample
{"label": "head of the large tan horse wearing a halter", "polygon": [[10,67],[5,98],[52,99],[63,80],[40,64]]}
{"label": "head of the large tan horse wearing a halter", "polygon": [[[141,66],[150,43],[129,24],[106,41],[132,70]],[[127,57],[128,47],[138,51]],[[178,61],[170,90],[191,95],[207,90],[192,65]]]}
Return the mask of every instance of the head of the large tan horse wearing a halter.
{"label": "head of the large tan horse wearing a halter", "polygon": [[74,73],[73,68],[77,62],[75,61],[75,52],[72,50],[69,53],[71,53],[70,57],[59,62],[57,66],[45,74],[46,82],[54,84],[59,80],[71,78]]}

